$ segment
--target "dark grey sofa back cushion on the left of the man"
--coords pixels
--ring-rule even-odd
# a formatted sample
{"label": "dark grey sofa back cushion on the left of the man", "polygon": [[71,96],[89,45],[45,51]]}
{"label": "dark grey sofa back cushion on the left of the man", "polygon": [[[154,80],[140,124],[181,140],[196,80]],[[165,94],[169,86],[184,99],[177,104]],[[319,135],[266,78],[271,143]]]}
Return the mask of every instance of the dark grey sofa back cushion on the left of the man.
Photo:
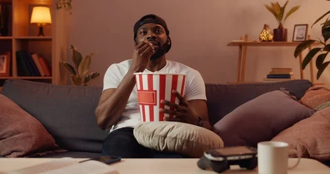
{"label": "dark grey sofa back cushion on the left of the man", "polygon": [[109,133],[96,122],[101,92],[102,87],[5,80],[1,94],[39,120],[62,149],[100,153]]}

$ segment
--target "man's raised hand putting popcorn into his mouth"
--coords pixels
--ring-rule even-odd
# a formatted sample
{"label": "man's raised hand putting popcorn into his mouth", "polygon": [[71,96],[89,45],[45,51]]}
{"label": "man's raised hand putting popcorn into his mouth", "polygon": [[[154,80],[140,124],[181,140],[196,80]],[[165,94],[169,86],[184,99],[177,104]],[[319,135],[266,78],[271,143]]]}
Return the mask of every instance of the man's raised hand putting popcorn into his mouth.
{"label": "man's raised hand putting popcorn into his mouth", "polygon": [[142,41],[138,45],[135,46],[135,51],[133,53],[133,62],[131,68],[133,68],[134,72],[143,72],[148,65],[148,62],[155,54],[155,48],[151,43],[146,41]]}

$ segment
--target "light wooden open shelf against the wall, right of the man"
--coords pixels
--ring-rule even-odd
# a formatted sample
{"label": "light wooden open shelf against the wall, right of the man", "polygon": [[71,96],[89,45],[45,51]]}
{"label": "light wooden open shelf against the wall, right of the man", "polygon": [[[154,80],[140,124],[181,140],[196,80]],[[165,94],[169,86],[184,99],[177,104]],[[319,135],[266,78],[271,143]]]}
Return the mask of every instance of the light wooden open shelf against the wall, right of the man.
{"label": "light wooden open shelf against the wall, right of the man", "polygon": [[[308,39],[310,36],[307,36]],[[239,58],[237,61],[237,74],[235,83],[246,83],[245,82],[245,69],[246,69],[246,57],[248,56],[248,47],[296,47],[300,42],[259,42],[250,41],[249,35],[245,34],[245,37],[241,37],[240,40],[231,41],[228,46],[238,46],[239,47]],[[314,43],[313,46],[321,45],[321,43]],[[309,47],[309,51],[311,47]],[[299,67],[300,67],[300,79],[304,79],[304,73],[302,68],[303,54],[299,54]],[[314,83],[314,65],[311,61],[309,63],[311,83]],[[229,82],[228,82],[229,83]],[[251,83],[251,82],[250,82]],[[315,85],[324,85],[323,83],[314,83]]]}

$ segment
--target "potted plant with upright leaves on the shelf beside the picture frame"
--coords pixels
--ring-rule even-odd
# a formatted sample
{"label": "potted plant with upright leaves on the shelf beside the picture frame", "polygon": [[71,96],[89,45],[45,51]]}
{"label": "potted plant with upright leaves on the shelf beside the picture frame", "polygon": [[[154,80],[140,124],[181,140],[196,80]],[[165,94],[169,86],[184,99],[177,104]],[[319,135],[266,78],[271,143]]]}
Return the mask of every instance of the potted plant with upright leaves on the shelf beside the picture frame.
{"label": "potted plant with upright leaves on the shelf beside the picture frame", "polygon": [[273,30],[274,41],[285,41],[285,42],[287,41],[287,28],[284,28],[283,25],[284,25],[285,21],[287,20],[287,18],[300,8],[300,6],[294,6],[284,16],[285,8],[287,7],[288,2],[289,1],[286,1],[284,6],[280,6],[280,4],[278,2],[270,3],[270,6],[265,4],[265,7],[267,8],[267,10],[269,10],[274,15],[274,17],[276,18],[276,21],[278,23],[278,28],[275,28]]}

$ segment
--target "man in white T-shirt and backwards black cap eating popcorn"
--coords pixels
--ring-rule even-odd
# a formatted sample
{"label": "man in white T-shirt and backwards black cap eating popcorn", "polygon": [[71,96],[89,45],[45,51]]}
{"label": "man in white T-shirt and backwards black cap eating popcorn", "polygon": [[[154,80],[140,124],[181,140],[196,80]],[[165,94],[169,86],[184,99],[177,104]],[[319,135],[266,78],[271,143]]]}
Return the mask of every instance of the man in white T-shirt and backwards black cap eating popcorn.
{"label": "man in white T-shirt and backwards black cap eating popcorn", "polygon": [[[180,105],[162,100],[164,105],[175,109],[159,109],[176,118],[166,121],[186,122],[211,129],[206,105],[206,91],[203,78],[195,69],[181,63],[166,60],[166,53],[172,45],[165,21],[155,14],[148,14],[137,21],[133,28],[135,51],[132,59],[111,65],[104,75],[104,87],[96,118],[101,129],[111,129],[104,140],[102,154],[120,157],[174,157],[147,149],[138,144],[133,135],[133,127],[141,122],[137,102],[135,72],[183,73],[188,74],[186,91]],[[175,156],[176,157],[176,156]]]}

